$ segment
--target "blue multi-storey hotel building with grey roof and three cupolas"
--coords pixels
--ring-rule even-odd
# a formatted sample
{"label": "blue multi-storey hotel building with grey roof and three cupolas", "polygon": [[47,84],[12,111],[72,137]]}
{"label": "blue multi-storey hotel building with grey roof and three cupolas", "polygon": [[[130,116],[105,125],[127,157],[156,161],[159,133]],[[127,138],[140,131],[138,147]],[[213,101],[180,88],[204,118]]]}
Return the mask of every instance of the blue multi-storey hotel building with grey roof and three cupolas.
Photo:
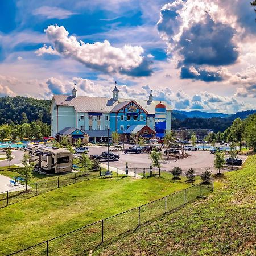
{"label": "blue multi-storey hotel building with grey roof and three cupolas", "polygon": [[[158,135],[155,124],[158,120],[156,105],[152,94],[148,100],[132,100],[119,98],[119,90],[115,86],[112,98],[77,96],[76,89],[72,96],[53,95],[51,106],[51,134],[61,135],[69,127],[77,128],[89,135],[89,141],[104,141],[107,130],[117,131],[121,140],[126,134],[141,128],[145,137]],[[166,130],[171,130],[171,106],[162,101],[166,108]],[[142,129],[143,128],[143,129]],[[75,141],[74,141],[75,142]]]}

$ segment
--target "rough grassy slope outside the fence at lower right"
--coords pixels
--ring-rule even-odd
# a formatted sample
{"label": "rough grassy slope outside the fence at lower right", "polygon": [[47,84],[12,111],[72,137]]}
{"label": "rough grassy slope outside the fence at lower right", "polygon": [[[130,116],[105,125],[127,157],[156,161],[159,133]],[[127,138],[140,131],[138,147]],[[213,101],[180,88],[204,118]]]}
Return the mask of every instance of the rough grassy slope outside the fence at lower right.
{"label": "rough grassy slope outside the fence at lower right", "polygon": [[256,255],[256,155],[218,179],[207,199],[145,226],[93,255]]}

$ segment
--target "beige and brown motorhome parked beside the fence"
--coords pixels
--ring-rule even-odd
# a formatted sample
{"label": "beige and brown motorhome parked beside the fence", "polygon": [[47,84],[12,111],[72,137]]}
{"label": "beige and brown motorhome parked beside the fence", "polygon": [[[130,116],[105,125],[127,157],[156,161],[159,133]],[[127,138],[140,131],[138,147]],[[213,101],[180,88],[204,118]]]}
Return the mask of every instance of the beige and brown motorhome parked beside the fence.
{"label": "beige and brown motorhome parked beside the fence", "polygon": [[28,146],[24,152],[39,171],[58,174],[72,170],[73,155],[64,148]]}

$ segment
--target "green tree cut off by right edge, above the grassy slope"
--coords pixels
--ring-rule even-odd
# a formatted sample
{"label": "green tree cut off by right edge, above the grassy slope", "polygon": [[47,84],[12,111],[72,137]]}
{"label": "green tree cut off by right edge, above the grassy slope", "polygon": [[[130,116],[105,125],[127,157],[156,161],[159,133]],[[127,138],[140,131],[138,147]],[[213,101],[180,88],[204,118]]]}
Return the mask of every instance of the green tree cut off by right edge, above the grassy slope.
{"label": "green tree cut off by right edge, above the grassy slope", "polygon": [[256,113],[249,115],[249,117],[245,119],[243,138],[247,145],[256,152]]}

